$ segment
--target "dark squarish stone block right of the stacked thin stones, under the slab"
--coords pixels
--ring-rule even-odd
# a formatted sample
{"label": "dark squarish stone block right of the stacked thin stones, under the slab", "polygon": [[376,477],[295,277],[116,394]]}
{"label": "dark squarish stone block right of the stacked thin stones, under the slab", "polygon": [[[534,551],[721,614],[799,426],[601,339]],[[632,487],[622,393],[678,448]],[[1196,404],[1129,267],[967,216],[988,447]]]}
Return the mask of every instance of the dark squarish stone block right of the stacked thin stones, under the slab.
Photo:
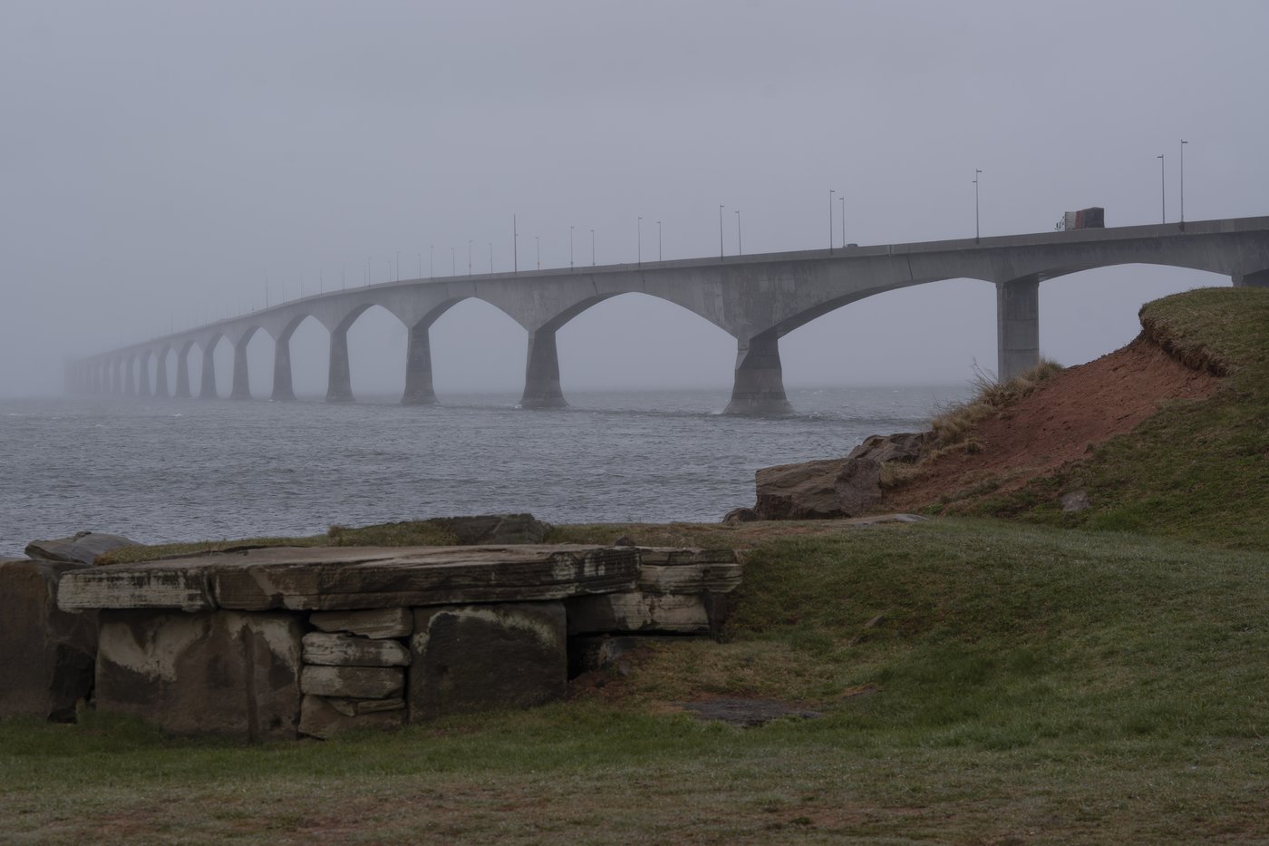
{"label": "dark squarish stone block right of the stacked thin stones, under the slab", "polygon": [[415,608],[410,722],[561,699],[565,628],[561,602]]}

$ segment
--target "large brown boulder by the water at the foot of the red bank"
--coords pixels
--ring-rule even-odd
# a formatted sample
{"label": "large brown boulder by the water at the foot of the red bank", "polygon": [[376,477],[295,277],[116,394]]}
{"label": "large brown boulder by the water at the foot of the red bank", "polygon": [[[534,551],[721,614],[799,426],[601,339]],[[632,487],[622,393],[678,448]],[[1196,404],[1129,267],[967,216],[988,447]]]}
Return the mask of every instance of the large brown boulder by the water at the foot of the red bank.
{"label": "large brown boulder by the water at the foot of the red bank", "polygon": [[868,457],[763,467],[756,481],[760,520],[854,517],[881,500],[881,464]]}

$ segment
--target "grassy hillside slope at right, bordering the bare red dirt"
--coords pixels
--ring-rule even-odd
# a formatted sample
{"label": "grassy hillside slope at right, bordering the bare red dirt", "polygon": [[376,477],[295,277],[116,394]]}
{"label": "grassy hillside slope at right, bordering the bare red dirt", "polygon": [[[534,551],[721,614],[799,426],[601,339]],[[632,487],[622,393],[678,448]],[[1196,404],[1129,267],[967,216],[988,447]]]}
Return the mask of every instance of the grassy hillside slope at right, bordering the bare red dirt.
{"label": "grassy hillside slope at right, bordering the bare red dirt", "polygon": [[[1209,399],[1171,403],[1128,434],[978,514],[1269,549],[1269,291],[1206,288],[1146,304],[1147,337],[1225,375]],[[1085,490],[1091,507],[1063,513]]]}

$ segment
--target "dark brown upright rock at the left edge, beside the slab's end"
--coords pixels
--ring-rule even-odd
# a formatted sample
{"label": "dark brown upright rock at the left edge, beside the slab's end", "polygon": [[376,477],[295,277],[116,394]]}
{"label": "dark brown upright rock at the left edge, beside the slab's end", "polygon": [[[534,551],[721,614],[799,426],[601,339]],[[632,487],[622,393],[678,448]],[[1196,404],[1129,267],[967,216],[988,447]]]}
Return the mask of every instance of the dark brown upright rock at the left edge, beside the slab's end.
{"label": "dark brown upright rock at the left edge, beside the slab's end", "polygon": [[62,574],[82,567],[0,561],[0,719],[74,720],[93,690],[96,612],[57,607]]}

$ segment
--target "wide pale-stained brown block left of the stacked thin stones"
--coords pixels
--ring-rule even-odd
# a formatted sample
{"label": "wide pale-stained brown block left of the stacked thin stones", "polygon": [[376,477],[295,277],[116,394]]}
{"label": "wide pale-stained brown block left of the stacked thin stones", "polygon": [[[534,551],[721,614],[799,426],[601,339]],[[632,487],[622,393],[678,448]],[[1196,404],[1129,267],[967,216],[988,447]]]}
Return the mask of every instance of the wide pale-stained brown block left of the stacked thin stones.
{"label": "wide pale-stained brown block left of the stacked thin stones", "polygon": [[100,622],[98,710],[173,734],[296,735],[299,615],[108,610]]}

